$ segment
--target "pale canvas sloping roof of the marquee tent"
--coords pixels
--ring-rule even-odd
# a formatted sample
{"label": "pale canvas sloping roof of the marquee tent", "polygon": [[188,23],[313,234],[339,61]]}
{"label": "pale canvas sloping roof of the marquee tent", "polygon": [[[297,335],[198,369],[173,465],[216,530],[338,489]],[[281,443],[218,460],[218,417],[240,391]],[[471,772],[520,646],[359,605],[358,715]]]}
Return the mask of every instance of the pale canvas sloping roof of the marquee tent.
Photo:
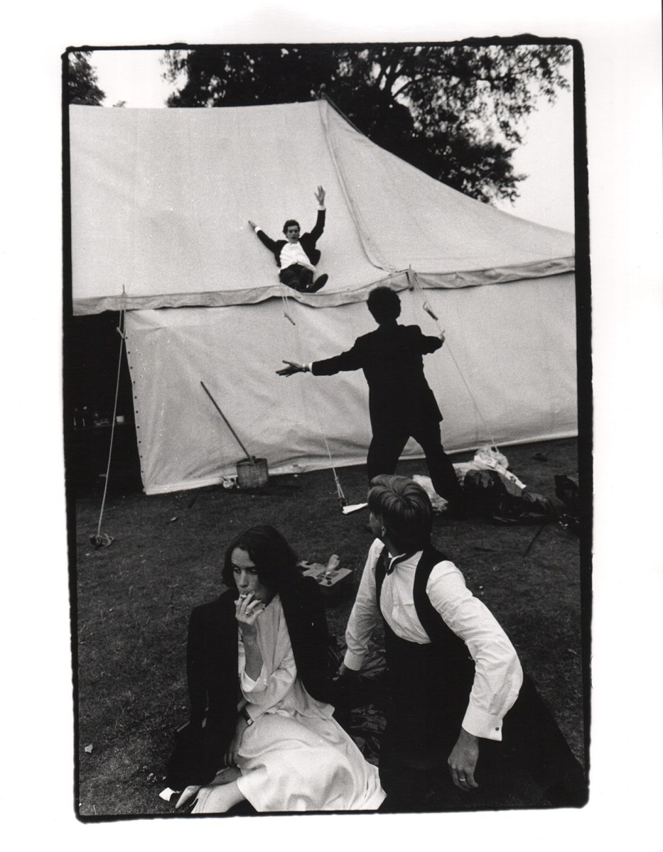
{"label": "pale canvas sloping roof of the marquee tent", "polygon": [[[278,239],[312,227],[326,189],[319,272],[297,301],[363,301],[373,285],[457,288],[574,268],[572,234],[458,193],[373,144],[327,101],[214,109],[70,107],[76,314],[224,306],[281,296]],[[123,296],[124,293],[124,296]]]}

